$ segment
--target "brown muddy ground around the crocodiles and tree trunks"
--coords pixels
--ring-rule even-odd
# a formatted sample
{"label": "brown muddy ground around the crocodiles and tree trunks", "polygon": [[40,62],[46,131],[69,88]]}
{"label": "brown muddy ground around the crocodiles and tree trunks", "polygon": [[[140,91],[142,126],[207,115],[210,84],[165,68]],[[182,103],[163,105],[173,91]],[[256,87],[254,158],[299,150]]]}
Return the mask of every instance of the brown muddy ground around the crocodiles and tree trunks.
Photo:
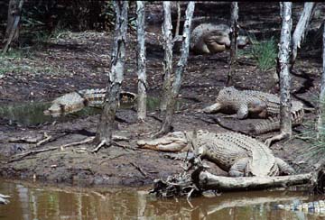
{"label": "brown muddy ground around the crocodiles and tree trunks", "polygon": [[[246,6],[249,8],[249,5]],[[158,27],[158,28],[157,28]],[[147,79],[148,95],[160,96],[162,85],[163,48],[160,24],[148,29],[147,41]],[[128,35],[127,60],[123,89],[136,92],[135,34]],[[51,101],[57,96],[75,89],[105,87],[109,69],[109,50],[112,45],[111,32],[66,32],[58,39],[52,39],[42,50],[36,50],[32,58],[10,60],[14,66],[32,66],[34,69],[12,71],[0,78],[0,104]],[[177,60],[178,54],[174,56]],[[176,61],[175,61],[176,63]],[[252,64],[253,63],[253,64]],[[50,68],[46,73],[35,73],[37,69]],[[35,70],[36,69],[36,70]],[[34,70],[34,71],[33,71]],[[306,105],[315,105],[312,97],[319,91],[321,60],[312,57],[300,57],[296,63],[296,75],[292,75],[292,95],[306,101]],[[195,109],[213,103],[220,88],[226,85],[228,73],[228,52],[215,55],[195,56],[190,54],[188,67],[184,72],[181,84],[181,97],[185,105],[174,115],[174,131],[207,129],[213,132],[224,132],[226,129],[215,124],[213,117],[194,113]],[[234,86],[277,93],[273,78],[274,69],[261,71],[254,60],[241,57],[234,75]],[[157,152],[138,149],[135,142],[143,133],[157,131],[163,119],[158,111],[148,113],[147,121],[139,124],[134,109],[120,109],[117,116],[118,130],[129,137],[128,142],[118,142],[121,146],[103,148],[98,153],[87,150],[95,146],[91,144],[69,147],[63,151],[47,151],[24,157],[22,160],[12,159],[14,154],[23,151],[46,149],[76,142],[87,138],[87,130],[96,132],[98,115],[73,118],[67,122],[40,124],[39,126],[23,126],[8,124],[8,120],[0,118],[0,175],[6,178],[40,179],[51,182],[81,183],[85,185],[129,185],[139,186],[153,183],[155,178],[166,178],[181,171],[181,159],[175,159],[174,153]],[[307,113],[306,122],[314,120],[314,113]],[[223,119],[225,124],[235,130],[244,131],[247,124],[259,119]],[[295,134],[304,131],[301,125]],[[53,141],[35,147],[34,144],[9,142],[11,137],[40,137],[48,133]],[[268,133],[256,138],[274,135]],[[311,170],[313,161],[298,165],[301,161],[302,149],[309,143],[301,139],[275,143],[271,148],[274,154],[292,164],[299,172]],[[214,164],[209,163],[213,172],[225,175]]]}

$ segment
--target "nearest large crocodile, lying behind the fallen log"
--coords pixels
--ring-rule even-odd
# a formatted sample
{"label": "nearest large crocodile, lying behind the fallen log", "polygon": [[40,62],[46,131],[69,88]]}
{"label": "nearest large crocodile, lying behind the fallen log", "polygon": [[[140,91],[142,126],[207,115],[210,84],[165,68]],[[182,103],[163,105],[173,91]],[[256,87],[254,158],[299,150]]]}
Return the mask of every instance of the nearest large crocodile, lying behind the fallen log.
{"label": "nearest large crocodile, lying behind the fallen log", "polygon": [[155,151],[185,151],[190,143],[195,146],[195,154],[209,160],[230,177],[277,176],[294,173],[290,165],[262,142],[241,133],[210,133],[199,130],[193,138],[193,132],[174,132],[153,140],[139,140],[140,148]]}

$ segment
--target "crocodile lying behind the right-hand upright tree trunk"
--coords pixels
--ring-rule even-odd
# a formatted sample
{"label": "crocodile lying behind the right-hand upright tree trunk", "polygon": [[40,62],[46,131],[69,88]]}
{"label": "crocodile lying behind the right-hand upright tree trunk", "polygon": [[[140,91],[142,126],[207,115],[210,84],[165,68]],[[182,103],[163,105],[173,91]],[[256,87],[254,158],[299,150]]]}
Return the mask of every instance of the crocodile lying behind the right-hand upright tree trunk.
{"label": "crocodile lying behind the right-hand upright tree trunk", "polygon": [[[268,117],[263,122],[251,124],[250,133],[261,134],[280,130],[280,98],[274,94],[225,87],[218,93],[216,103],[204,108],[203,112],[236,114],[238,119],[245,119],[248,116]],[[292,100],[291,115],[292,125],[302,124],[304,116],[302,102]]]}

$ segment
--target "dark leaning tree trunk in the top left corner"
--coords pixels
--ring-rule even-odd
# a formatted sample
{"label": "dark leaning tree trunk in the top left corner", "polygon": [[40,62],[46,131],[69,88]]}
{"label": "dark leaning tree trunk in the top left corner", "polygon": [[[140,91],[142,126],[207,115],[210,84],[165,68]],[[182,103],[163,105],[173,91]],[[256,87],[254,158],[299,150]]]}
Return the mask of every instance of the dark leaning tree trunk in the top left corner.
{"label": "dark leaning tree trunk in the top left corner", "polygon": [[8,7],[8,21],[5,30],[5,47],[3,52],[5,53],[9,49],[9,45],[13,41],[18,40],[19,36],[19,23],[21,19],[23,8],[23,0],[10,0]]}

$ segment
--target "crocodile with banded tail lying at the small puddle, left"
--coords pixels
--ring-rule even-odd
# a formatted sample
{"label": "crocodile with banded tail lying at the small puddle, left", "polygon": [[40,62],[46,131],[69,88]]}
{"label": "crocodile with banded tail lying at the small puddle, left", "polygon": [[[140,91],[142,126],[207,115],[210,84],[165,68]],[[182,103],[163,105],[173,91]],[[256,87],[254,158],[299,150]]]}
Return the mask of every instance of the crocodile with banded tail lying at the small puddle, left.
{"label": "crocodile with banded tail lying at the small puddle, left", "polygon": [[[51,102],[51,106],[45,110],[44,115],[60,116],[77,112],[86,106],[101,107],[104,104],[107,88],[91,88],[70,92],[59,96]],[[122,91],[120,99],[134,101],[136,95]]]}

